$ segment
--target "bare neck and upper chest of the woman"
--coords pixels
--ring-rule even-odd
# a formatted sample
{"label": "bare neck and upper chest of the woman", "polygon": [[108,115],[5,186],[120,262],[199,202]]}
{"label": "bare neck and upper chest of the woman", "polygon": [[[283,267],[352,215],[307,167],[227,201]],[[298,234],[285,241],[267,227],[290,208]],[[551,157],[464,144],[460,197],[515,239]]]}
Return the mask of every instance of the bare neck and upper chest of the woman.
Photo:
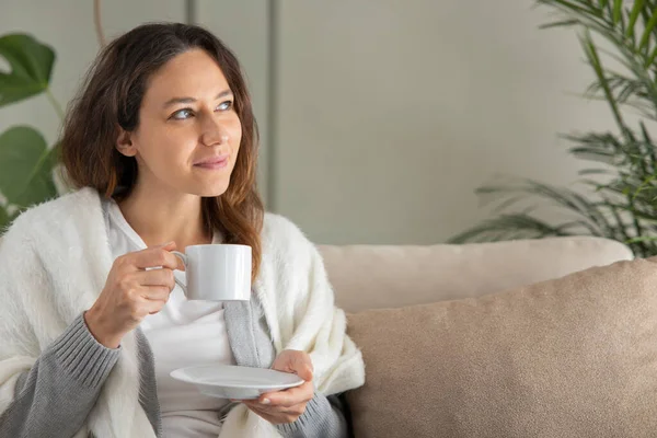
{"label": "bare neck and upper chest of the woman", "polygon": [[184,251],[189,245],[212,241],[204,224],[200,196],[172,194],[169,187],[145,187],[138,183],[118,206],[149,247],[174,241],[178,251]]}

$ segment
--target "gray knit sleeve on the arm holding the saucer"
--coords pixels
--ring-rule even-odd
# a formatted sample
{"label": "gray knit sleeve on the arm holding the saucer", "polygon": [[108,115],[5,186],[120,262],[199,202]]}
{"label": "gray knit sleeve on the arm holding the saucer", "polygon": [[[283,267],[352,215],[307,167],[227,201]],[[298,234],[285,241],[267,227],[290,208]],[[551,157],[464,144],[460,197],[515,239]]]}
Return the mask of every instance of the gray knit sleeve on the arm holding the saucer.
{"label": "gray knit sleeve on the arm holding the saucer", "polygon": [[337,395],[315,393],[295,423],[276,425],[285,438],[346,438],[349,436],[343,402]]}

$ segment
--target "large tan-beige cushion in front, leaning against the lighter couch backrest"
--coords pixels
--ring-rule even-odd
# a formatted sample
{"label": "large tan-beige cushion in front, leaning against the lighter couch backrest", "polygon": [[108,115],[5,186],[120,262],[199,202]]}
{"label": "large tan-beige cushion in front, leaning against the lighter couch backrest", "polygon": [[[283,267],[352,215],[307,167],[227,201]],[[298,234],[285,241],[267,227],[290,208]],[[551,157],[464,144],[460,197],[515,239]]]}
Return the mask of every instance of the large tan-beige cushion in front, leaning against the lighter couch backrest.
{"label": "large tan-beige cushion in front, leaning against the lighter couch backrest", "polygon": [[357,438],[657,436],[657,260],[349,315]]}

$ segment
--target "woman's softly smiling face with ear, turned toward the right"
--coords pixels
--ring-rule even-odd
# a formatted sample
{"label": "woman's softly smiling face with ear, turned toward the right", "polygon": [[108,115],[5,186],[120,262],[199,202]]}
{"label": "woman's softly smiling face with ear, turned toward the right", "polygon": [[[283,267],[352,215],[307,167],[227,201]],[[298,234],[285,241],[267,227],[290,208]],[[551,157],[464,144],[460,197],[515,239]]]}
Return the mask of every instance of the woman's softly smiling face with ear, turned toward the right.
{"label": "woman's softly smiling face with ear, turned toward the right", "polygon": [[138,184],[180,194],[219,196],[230,183],[242,138],[234,96],[201,49],[176,56],[149,80],[139,126],[117,148],[135,157]]}

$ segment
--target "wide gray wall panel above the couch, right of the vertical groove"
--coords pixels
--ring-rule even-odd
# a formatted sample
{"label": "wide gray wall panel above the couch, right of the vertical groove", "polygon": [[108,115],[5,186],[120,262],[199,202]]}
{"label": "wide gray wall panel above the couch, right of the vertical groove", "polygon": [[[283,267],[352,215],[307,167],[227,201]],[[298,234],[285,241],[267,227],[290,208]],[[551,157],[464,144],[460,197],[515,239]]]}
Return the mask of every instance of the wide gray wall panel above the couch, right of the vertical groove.
{"label": "wide gray wall panel above the couch, right of the vertical groove", "polygon": [[496,174],[570,184],[608,120],[532,1],[281,1],[277,208],[321,242],[442,242]]}

